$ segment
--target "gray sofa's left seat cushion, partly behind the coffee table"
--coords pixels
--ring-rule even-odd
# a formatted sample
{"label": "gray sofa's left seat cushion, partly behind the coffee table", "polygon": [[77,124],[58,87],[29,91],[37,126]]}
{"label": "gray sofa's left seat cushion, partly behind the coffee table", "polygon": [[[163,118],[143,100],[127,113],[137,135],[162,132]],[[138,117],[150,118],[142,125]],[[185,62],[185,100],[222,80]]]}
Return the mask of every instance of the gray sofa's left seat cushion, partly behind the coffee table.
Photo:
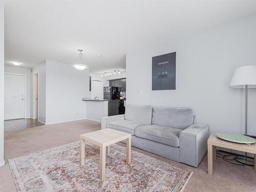
{"label": "gray sofa's left seat cushion, partly behind the coffee table", "polygon": [[118,120],[107,123],[106,128],[131,133],[132,135],[134,135],[135,128],[143,125],[146,124],[130,120]]}

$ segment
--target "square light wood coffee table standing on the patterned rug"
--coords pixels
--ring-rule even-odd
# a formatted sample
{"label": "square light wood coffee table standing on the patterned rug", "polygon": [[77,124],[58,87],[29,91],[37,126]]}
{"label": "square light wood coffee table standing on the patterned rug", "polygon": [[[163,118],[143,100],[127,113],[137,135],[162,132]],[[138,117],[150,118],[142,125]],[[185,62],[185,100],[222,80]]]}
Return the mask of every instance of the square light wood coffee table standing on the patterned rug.
{"label": "square light wood coffee table standing on the patterned rug", "polygon": [[100,147],[100,180],[105,180],[106,153],[110,153],[110,145],[126,139],[126,163],[131,163],[131,134],[113,129],[103,129],[80,135],[80,163],[84,165],[86,141]]}

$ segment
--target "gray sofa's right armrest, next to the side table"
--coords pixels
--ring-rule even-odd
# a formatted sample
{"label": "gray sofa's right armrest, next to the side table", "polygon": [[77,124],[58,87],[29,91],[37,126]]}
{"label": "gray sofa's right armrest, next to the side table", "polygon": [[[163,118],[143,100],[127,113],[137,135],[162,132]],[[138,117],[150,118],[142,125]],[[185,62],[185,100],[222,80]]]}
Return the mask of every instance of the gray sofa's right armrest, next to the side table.
{"label": "gray sofa's right armrest, next to the side table", "polygon": [[193,124],[180,132],[180,162],[197,167],[207,152],[209,125]]}

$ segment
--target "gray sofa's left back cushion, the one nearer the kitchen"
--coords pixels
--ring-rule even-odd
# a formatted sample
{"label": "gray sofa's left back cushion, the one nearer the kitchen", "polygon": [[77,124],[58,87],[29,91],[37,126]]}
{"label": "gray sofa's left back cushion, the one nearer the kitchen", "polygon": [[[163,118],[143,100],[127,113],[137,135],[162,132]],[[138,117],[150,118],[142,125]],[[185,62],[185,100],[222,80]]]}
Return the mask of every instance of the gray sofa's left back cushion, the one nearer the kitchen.
{"label": "gray sofa's left back cushion, the one nearer the kitchen", "polygon": [[125,106],[125,120],[136,121],[145,124],[152,124],[152,110],[151,105],[129,105]]}

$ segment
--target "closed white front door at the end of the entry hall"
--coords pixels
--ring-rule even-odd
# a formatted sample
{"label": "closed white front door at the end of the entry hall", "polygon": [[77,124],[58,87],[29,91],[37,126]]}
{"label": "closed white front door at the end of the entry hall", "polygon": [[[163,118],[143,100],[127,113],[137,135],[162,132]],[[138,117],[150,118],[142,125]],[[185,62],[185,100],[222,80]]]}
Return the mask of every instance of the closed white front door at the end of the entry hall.
{"label": "closed white front door at the end of the entry hall", "polygon": [[5,74],[5,120],[25,118],[25,76]]}

